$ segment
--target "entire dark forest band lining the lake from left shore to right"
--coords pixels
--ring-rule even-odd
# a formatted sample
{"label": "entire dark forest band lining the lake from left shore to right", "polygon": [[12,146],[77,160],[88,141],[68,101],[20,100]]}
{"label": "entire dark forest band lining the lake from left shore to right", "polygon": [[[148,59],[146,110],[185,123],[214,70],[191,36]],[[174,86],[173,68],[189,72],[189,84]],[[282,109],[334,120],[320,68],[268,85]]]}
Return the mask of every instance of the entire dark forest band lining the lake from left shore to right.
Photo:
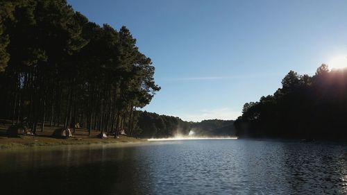
{"label": "entire dark forest band lining the lake from left shore to right", "polygon": [[126,26],[99,26],[65,0],[0,1],[0,118],[34,135],[78,124],[135,137],[226,136],[235,128],[240,137],[347,137],[347,69],[289,71],[235,122],[200,123],[139,111],[160,90],[154,71]]}

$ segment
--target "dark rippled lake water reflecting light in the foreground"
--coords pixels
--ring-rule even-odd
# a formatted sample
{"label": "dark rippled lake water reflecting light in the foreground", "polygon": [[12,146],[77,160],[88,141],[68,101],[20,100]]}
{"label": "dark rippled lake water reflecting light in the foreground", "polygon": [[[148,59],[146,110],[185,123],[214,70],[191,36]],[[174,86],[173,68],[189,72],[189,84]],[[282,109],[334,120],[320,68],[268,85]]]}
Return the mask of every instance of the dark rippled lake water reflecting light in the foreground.
{"label": "dark rippled lake water reflecting light in the foreground", "polygon": [[194,140],[0,151],[0,179],[3,195],[347,194],[347,145]]}

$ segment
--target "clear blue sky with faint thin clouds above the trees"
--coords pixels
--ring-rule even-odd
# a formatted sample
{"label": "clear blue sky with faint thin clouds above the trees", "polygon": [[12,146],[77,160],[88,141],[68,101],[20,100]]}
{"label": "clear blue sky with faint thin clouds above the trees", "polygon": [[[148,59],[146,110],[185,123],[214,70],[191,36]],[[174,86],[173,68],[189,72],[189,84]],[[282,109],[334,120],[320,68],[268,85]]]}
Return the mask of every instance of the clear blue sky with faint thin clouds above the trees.
{"label": "clear blue sky with faint thin clouds above the trees", "polygon": [[68,0],[97,24],[127,26],[162,90],[146,110],[235,119],[289,70],[347,55],[347,1]]}

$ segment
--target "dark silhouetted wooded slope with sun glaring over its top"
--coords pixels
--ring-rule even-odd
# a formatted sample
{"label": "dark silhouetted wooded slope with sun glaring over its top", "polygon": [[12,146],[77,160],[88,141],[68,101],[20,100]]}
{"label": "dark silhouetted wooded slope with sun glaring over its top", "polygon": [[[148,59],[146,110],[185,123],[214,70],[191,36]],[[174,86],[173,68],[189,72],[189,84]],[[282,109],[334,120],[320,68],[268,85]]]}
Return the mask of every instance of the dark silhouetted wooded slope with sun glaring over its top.
{"label": "dark silhouetted wooded slope with sun glaring over its top", "polygon": [[244,105],[235,127],[242,137],[346,139],[346,119],[347,69],[321,65],[314,76],[289,71],[273,95]]}

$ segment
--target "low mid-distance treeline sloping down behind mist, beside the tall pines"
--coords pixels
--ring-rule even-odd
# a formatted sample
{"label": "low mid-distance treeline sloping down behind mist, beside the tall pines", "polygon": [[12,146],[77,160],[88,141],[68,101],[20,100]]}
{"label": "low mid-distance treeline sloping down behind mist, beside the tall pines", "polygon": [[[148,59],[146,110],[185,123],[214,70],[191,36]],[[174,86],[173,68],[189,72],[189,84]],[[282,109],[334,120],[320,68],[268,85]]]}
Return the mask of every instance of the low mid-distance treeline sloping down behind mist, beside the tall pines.
{"label": "low mid-distance treeline sloping down behind mist, beside the tall pines", "polygon": [[158,115],[153,112],[137,112],[137,133],[142,138],[174,137],[175,135],[188,135],[191,123],[178,117]]}

